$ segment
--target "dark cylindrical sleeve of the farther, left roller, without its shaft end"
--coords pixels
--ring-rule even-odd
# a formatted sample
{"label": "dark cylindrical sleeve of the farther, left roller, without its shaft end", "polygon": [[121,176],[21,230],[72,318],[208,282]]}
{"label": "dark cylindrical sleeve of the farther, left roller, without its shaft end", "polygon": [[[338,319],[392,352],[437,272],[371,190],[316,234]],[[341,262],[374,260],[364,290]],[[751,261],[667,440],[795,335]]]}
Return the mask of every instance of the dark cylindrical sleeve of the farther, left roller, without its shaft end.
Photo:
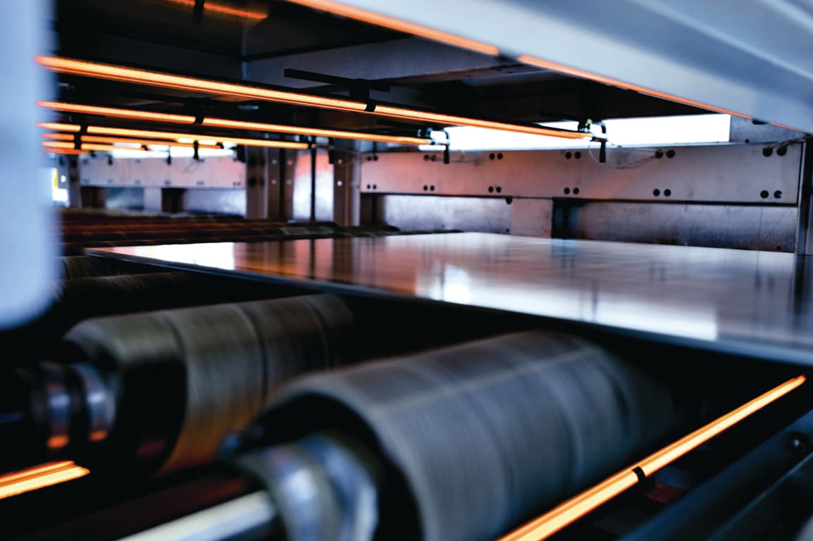
{"label": "dark cylindrical sleeve of the farther, left roller, without its shaft end", "polygon": [[[99,461],[164,473],[214,460],[273,387],[357,360],[353,314],[329,295],[93,318],[65,335],[63,360],[102,370],[115,410]],[[93,420],[91,420],[93,421]]]}

